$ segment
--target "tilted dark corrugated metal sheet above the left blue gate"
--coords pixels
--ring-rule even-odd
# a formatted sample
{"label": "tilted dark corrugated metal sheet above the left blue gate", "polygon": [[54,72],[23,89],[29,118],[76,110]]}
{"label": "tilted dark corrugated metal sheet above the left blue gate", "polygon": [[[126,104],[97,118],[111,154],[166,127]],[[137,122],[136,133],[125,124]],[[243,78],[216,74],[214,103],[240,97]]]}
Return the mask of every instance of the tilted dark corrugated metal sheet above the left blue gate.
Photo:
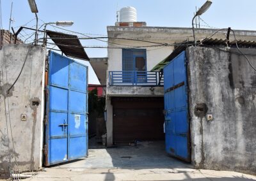
{"label": "tilted dark corrugated metal sheet above the left blue gate", "polygon": [[46,33],[67,57],[90,61],[76,35],[49,30],[47,30]]}

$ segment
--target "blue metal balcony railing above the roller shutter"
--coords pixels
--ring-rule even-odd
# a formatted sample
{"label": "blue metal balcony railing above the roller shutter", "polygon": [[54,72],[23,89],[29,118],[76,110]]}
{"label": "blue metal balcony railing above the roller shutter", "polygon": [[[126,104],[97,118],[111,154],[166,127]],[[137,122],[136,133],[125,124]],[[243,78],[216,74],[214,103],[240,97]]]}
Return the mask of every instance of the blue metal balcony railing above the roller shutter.
{"label": "blue metal balcony railing above the roller shutter", "polygon": [[163,86],[161,71],[109,71],[109,85],[115,86]]}

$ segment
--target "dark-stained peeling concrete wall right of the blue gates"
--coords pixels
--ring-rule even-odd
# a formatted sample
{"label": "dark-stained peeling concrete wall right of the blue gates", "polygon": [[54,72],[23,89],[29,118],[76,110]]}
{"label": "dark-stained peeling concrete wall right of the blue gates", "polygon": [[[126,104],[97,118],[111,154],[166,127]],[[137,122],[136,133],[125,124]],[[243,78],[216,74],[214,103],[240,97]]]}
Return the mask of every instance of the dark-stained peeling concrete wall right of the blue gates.
{"label": "dark-stained peeling concrete wall right of the blue gates", "polygon": [[[256,66],[256,49],[242,50]],[[189,47],[186,54],[192,163],[255,174],[256,71],[236,48]],[[205,113],[196,110],[200,104],[206,105]]]}

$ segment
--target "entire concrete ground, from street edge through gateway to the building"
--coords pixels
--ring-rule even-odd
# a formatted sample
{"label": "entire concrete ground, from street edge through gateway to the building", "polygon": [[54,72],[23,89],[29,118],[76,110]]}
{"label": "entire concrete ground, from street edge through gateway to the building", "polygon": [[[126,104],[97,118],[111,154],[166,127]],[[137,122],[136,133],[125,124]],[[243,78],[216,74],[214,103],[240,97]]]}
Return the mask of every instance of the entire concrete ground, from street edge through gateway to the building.
{"label": "entire concrete ground, from street edge through gateway to the building", "polygon": [[195,170],[169,157],[164,142],[141,142],[137,147],[104,148],[93,145],[89,156],[45,168],[25,180],[256,180],[233,171]]}

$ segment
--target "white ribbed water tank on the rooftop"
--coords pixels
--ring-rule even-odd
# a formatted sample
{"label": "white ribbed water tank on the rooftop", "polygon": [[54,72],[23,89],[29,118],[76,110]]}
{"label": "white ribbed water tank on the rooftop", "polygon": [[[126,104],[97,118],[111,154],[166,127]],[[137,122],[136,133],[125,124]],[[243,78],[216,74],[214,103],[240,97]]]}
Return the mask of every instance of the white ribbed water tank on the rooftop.
{"label": "white ribbed water tank on the rooftop", "polygon": [[120,22],[136,22],[137,11],[134,7],[128,6],[120,10]]}

